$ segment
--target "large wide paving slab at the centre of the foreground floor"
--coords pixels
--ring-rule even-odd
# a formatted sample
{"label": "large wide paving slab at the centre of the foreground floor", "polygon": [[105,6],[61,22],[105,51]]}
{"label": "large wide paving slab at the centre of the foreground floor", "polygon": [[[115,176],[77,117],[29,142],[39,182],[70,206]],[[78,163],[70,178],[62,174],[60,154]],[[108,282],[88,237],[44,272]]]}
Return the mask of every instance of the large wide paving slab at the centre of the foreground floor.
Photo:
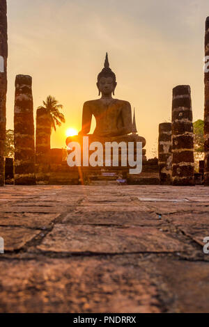
{"label": "large wide paving slab at the centre of the foreground floor", "polygon": [[157,228],[56,224],[38,249],[55,253],[173,253],[192,247]]}

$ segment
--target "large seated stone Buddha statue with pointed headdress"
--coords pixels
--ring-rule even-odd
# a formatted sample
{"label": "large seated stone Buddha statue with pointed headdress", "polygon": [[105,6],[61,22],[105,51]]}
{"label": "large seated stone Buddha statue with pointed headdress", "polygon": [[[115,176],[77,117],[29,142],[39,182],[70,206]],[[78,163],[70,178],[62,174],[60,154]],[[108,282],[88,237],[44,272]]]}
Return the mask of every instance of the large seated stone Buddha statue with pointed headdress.
{"label": "large seated stone Buddha statue with pointed headdress", "polygon": [[[130,102],[121,99],[114,99],[117,83],[116,74],[109,67],[108,54],[104,61],[104,68],[98,74],[96,83],[100,99],[86,101],[82,113],[82,130],[78,136],[68,137],[66,144],[70,141],[82,143],[83,136],[88,136],[89,142],[100,141],[125,141],[142,142],[142,147],[146,144],[144,137],[137,135],[135,125],[132,124],[132,109]],[[96,127],[93,134],[88,134],[91,130],[92,116],[95,117]],[[143,150],[145,154],[145,150]]]}

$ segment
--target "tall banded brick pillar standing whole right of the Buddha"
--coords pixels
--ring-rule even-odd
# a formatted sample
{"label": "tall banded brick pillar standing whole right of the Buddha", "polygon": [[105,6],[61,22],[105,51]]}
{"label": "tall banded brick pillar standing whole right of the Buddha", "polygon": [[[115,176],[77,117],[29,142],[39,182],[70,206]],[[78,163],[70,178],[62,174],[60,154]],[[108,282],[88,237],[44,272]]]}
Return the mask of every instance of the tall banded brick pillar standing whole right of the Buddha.
{"label": "tall banded brick pillar standing whole right of the Buddha", "polygon": [[192,101],[187,85],[173,88],[172,182],[173,185],[194,185]]}

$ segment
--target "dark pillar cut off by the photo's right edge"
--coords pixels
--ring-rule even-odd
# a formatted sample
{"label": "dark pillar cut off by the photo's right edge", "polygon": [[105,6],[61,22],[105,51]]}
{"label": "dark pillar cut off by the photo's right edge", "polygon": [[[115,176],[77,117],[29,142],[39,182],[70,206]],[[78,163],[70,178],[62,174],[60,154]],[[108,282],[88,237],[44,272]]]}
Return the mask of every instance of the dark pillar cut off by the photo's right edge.
{"label": "dark pillar cut off by the photo's right edge", "polygon": [[[209,17],[206,19],[205,35],[205,60],[209,61]],[[204,134],[205,134],[205,168],[204,184],[209,186],[209,69],[205,67],[205,113],[204,113]]]}

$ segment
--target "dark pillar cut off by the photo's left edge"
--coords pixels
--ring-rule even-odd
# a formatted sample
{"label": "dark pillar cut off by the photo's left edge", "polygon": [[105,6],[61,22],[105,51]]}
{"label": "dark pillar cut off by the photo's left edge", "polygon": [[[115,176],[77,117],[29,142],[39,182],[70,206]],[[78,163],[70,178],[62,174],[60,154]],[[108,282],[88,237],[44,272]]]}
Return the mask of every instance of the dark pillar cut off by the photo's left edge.
{"label": "dark pillar cut off by the photo's left edge", "polygon": [[6,138],[7,16],[6,0],[0,1],[0,186],[4,185],[4,145]]}

